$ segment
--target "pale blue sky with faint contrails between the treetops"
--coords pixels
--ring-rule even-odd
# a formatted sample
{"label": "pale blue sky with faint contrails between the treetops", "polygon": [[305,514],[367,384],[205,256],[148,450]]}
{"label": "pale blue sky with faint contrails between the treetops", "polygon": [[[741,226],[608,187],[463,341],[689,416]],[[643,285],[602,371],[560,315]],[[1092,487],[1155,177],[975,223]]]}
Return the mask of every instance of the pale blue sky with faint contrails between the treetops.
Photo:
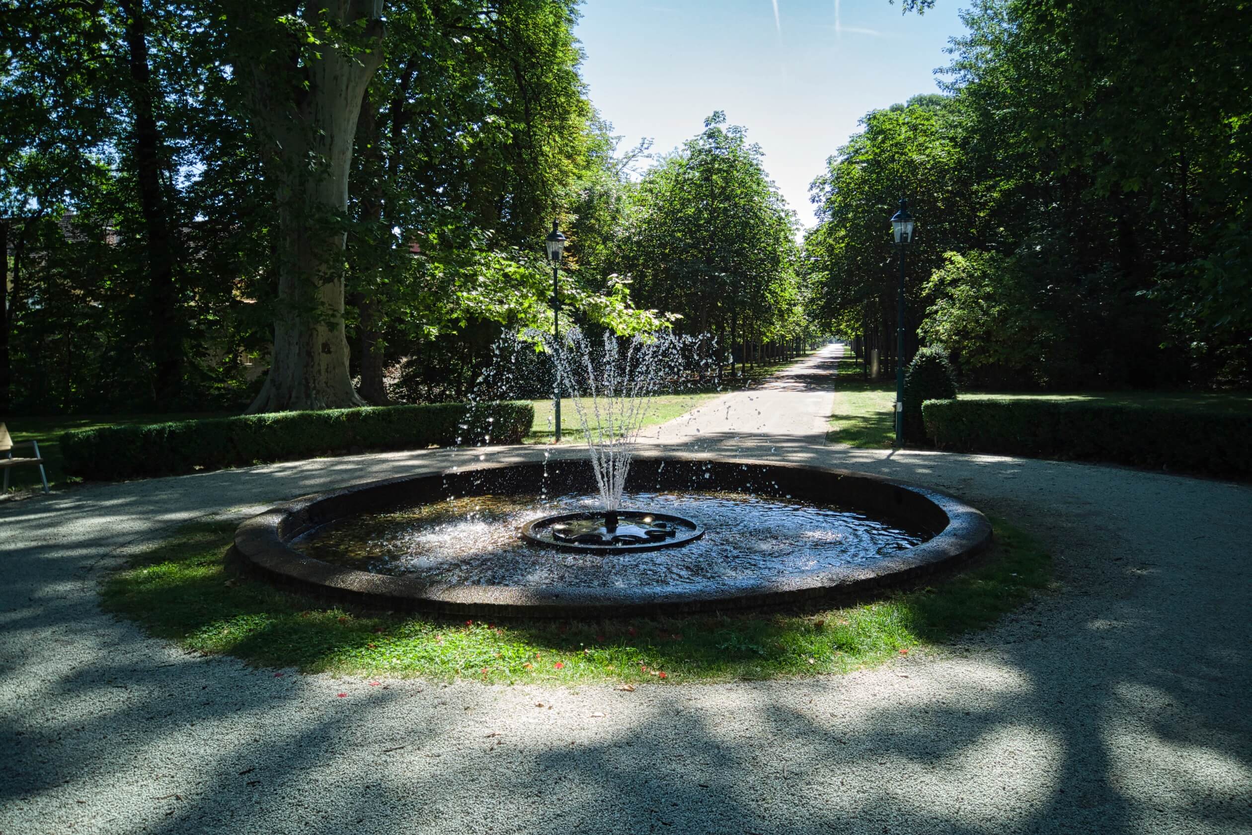
{"label": "pale blue sky with faint contrails between the treetops", "polygon": [[586,0],[576,34],[591,100],[623,145],[651,136],[667,151],[725,110],[809,227],[809,183],[856,121],[938,90],[967,5],[919,16],[888,0]]}

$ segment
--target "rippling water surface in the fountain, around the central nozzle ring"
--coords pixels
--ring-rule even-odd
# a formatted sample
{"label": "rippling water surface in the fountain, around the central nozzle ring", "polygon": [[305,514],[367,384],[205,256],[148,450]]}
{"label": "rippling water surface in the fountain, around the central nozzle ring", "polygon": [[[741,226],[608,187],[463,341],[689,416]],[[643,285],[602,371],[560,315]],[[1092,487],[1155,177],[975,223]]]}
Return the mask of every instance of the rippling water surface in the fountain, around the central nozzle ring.
{"label": "rippling water surface in the fountain, around the central nozzle ring", "polygon": [[307,556],[429,582],[516,587],[691,590],[863,566],[930,538],[861,513],[746,493],[626,493],[623,508],[675,513],[705,537],[617,555],[545,548],[520,538],[540,516],[596,510],[600,497],[471,496],[322,526],[292,545]]}

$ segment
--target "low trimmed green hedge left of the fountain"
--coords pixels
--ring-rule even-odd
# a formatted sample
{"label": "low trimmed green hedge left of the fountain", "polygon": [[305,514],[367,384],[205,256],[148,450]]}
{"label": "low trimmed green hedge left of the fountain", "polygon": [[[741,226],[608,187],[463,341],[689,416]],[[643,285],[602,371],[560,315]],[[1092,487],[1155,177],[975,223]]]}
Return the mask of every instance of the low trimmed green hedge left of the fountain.
{"label": "low trimmed green hedge left of the fountain", "polygon": [[61,436],[61,454],[66,474],[109,481],[356,449],[520,443],[533,422],[530,403],[275,412],[76,429]]}

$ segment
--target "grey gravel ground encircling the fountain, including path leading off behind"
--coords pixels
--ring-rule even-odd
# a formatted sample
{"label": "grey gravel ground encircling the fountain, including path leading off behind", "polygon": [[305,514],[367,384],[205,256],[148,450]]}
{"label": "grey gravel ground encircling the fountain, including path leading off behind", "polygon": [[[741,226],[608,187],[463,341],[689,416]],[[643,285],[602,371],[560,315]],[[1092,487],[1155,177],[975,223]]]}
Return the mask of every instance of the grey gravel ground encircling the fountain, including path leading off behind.
{"label": "grey gravel ground encircling the fountain, including path leading off behind", "polygon": [[101,615],[96,583],[197,516],[477,453],[5,502],[0,832],[1252,832],[1252,489],[824,446],[829,362],[661,437],[954,492],[1042,537],[1060,588],[963,646],[849,676],[371,686],[187,656]]}

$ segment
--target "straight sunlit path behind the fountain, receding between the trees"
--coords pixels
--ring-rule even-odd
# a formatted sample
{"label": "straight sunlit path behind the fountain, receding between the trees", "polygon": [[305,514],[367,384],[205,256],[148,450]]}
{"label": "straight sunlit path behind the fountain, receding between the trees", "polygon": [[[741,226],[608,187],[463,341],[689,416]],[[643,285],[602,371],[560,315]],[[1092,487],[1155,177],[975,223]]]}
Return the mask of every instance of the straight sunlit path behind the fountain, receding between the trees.
{"label": "straight sunlit path behind the fountain, receding between the trees", "polygon": [[759,386],[730,392],[641,436],[692,449],[707,448],[709,439],[744,448],[780,438],[821,446],[834,406],[835,366],[845,351],[841,344],[824,346]]}

